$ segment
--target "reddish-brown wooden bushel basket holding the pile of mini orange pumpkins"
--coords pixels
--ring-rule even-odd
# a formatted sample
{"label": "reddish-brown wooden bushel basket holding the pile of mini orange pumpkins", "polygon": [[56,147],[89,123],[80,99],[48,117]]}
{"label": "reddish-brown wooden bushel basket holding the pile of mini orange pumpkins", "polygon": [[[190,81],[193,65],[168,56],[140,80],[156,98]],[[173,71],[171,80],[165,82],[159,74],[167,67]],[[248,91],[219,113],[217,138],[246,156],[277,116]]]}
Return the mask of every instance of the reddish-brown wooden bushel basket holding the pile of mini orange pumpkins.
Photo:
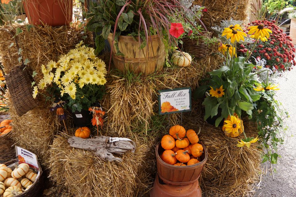
{"label": "reddish-brown wooden bushel basket holding the pile of mini orange pumpkins", "polygon": [[159,178],[162,179],[163,182],[172,185],[187,185],[196,182],[204,168],[204,164],[208,159],[208,151],[206,147],[200,141],[199,144],[204,147],[201,162],[191,166],[173,166],[165,163],[160,158],[160,154],[164,151],[164,149],[160,146],[159,142],[155,148]]}

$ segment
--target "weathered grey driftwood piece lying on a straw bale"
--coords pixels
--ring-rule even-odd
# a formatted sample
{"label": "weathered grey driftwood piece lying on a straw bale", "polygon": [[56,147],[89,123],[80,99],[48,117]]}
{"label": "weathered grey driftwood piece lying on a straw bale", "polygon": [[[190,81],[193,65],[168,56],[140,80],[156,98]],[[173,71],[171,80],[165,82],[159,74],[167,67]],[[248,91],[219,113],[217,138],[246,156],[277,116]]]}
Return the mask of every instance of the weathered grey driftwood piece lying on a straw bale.
{"label": "weathered grey driftwood piece lying on a straw bale", "polygon": [[80,137],[70,137],[68,143],[71,147],[92,150],[102,160],[122,161],[121,158],[114,157],[112,153],[123,154],[126,151],[133,151],[134,145],[127,140],[110,142],[107,136],[96,136],[93,139],[83,139]]}

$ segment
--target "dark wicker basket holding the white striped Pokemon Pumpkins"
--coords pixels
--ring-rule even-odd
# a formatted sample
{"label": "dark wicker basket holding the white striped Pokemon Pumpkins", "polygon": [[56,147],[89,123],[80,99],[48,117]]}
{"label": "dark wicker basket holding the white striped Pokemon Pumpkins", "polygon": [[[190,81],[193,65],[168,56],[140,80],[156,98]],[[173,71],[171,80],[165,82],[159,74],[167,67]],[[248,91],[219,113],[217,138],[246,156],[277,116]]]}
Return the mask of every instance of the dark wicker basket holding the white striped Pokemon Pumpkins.
{"label": "dark wicker basket holding the white striped Pokemon Pumpkins", "polygon": [[[17,165],[18,161],[19,161],[18,159],[13,159],[13,160],[7,161],[4,164],[6,166],[9,166],[11,164],[16,163]],[[39,168],[40,174],[35,180],[35,182],[33,183],[33,185],[27,191],[24,191],[22,194],[17,195],[17,197],[39,197],[42,195],[44,183],[43,183],[43,176],[42,176],[43,173],[39,163],[38,163],[38,168]]]}

